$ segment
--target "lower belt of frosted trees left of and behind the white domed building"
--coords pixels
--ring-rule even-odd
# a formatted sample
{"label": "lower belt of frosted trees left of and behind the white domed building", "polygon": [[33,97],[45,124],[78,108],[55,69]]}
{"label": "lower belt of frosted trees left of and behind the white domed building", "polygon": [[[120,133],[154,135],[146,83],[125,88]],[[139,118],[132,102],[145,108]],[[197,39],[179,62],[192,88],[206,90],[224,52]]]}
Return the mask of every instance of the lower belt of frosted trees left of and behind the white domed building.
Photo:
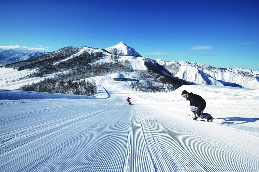
{"label": "lower belt of frosted trees left of and behind the white domed building", "polygon": [[133,71],[132,67],[113,62],[98,63],[94,66],[87,64],[67,73],[56,74],[53,78],[44,79],[40,83],[23,85],[19,90],[92,96],[96,93],[94,89],[96,83],[94,80],[85,81],[85,78],[131,71]]}

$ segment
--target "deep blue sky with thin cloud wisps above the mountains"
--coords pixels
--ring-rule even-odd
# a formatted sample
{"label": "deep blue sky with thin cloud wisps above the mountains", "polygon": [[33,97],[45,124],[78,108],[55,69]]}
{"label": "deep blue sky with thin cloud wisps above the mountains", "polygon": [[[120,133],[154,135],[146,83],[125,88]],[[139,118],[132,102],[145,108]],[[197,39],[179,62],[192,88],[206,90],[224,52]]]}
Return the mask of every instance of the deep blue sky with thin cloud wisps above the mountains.
{"label": "deep blue sky with thin cloud wisps above the mountains", "polygon": [[0,46],[124,42],[142,56],[259,71],[259,1],[7,1]]}

